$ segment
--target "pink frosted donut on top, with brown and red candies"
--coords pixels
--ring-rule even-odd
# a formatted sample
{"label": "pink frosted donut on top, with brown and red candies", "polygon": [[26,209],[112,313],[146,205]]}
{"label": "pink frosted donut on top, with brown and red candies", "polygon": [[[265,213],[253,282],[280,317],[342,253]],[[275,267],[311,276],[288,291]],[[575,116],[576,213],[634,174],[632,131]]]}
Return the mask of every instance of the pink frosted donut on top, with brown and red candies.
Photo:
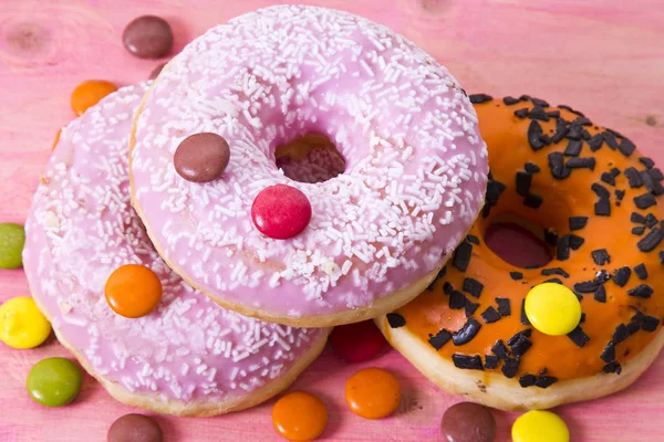
{"label": "pink frosted donut on top, with brown and red candies", "polygon": [[[204,185],[174,167],[197,133],[231,152]],[[312,133],[345,171],[291,180],[274,151]],[[227,308],[295,326],[357,322],[415,297],[474,222],[487,172],[475,110],[445,67],[385,27],[301,6],[191,42],[146,95],[129,159],[133,204],[168,265]],[[256,196],[277,183],[312,206],[293,239],[251,221]]]}

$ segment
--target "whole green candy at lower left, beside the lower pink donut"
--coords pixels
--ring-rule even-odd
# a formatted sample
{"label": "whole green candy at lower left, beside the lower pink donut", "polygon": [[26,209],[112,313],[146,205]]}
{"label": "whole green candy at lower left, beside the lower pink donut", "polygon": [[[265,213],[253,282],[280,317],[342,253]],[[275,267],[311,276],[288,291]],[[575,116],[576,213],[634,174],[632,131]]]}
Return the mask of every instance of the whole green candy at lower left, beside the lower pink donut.
{"label": "whole green candy at lower left, beside the lower pink donut", "polygon": [[83,375],[65,358],[43,359],[28,375],[28,392],[46,407],[62,407],[74,400],[81,390]]}

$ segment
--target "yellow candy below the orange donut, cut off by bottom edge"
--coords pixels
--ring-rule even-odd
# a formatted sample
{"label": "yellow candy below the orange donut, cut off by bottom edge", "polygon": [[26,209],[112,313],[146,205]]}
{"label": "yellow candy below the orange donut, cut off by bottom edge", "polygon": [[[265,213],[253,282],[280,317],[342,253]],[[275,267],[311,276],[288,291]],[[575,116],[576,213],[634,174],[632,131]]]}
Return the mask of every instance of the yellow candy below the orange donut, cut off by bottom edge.
{"label": "yellow candy below the orange donut, cut off by bottom edge", "polygon": [[512,425],[512,442],[569,442],[570,431],[550,411],[529,411]]}

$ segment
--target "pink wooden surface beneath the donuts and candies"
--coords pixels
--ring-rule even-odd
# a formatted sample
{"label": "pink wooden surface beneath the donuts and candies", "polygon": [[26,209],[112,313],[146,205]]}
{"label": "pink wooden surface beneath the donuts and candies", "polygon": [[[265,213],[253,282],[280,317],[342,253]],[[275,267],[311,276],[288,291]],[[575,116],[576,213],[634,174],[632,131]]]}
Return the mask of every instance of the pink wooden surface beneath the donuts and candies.
{"label": "pink wooden surface beneath the donuts and candies", "polygon": [[[58,128],[72,117],[69,96],[86,78],[129,84],[155,62],[133,59],[123,27],[144,13],[166,18],[176,50],[210,25],[273,4],[262,0],[0,0],[0,222],[22,222]],[[564,103],[630,136],[664,161],[664,8],[661,0],[329,0],[309,1],[384,23],[422,45],[469,92],[522,93]],[[21,271],[0,271],[0,302],[28,295]],[[35,361],[65,355],[55,341],[20,351],[0,345],[0,441],[103,441],[108,425],[135,411],[90,378],[62,409],[34,404],[24,391]],[[371,365],[396,372],[400,412],[383,421],[353,415],[343,401],[349,366],[328,349],[295,387],[330,408],[325,440],[435,441],[444,410],[457,399],[433,387],[396,352]],[[661,440],[664,356],[633,388],[558,410],[573,441]],[[271,403],[215,419],[157,418],[166,441],[279,440]],[[499,441],[513,414],[496,413]]]}

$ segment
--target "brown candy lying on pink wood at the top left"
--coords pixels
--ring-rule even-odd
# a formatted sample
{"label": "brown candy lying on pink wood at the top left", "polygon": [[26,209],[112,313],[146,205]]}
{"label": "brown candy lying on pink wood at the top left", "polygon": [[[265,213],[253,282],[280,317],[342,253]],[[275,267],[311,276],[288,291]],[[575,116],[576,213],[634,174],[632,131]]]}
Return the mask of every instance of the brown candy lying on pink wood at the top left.
{"label": "brown candy lying on pink wood at the top left", "polygon": [[122,41],[139,59],[159,59],[173,48],[173,32],[166,20],[155,15],[134,19],[125,28]]}

